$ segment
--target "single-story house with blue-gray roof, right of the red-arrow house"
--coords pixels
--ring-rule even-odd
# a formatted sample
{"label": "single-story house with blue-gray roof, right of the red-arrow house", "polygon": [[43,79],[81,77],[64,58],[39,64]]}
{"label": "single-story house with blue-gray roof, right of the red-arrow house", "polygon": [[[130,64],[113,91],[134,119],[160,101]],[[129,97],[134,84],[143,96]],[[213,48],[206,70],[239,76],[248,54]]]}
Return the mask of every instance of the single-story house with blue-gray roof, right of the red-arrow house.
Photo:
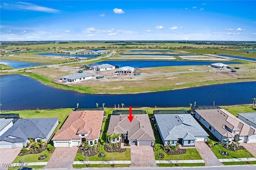
{"label": "single-story house with blue-gray roof, right of the red-arrow house", "polygon": [[195,141],[207,141],[206,131],[190,114],[154,114],[164,145],[194,146]]}

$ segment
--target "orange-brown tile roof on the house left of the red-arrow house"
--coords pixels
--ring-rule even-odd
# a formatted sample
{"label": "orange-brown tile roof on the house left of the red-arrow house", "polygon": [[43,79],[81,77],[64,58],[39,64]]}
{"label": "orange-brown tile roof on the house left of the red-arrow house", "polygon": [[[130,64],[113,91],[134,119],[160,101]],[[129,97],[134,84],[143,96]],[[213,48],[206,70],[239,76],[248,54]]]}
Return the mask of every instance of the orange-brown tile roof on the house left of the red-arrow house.
{"label": "orange-brown tile roof on the house left of the red-arrow house", "polygon": [[88,133],[86,139],[97,139],[103,115],[104,111],[72,111],[52,140],[80,139],[81,133]]}

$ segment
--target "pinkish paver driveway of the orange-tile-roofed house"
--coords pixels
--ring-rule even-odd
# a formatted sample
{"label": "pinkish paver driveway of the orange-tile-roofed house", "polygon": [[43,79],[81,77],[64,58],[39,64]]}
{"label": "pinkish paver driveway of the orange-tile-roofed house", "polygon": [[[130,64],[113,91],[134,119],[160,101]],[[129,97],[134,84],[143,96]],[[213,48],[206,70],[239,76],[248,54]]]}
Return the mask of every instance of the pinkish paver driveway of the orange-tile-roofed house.
{"label": "pinkish paver driveway of the orange-tile-roofed house", "polygon": [[44,168],[73,168],[78,147],[57,147]]}

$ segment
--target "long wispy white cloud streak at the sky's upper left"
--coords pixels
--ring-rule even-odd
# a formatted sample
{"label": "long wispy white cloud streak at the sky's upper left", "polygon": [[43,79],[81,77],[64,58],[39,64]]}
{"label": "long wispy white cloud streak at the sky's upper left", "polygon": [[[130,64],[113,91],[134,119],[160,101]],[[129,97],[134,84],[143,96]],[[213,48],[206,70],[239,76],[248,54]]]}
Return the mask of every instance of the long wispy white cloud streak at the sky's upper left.
{"label": "long wispy white cloud streak at the sky's upper left", "polygon": [[60,12],[60,10],[56,10],[53,8],[47,8],[44,6],[38,6],[35,4],[30,4],[27,2],[16,2],[14,4],[3,4],[1,8],[7,8],[10,10],[17,10],[17,9],[22,9],[22,10],[31,10],[31,11],[39,11],[39,12],[47,12],[47,13],[57,13]]}

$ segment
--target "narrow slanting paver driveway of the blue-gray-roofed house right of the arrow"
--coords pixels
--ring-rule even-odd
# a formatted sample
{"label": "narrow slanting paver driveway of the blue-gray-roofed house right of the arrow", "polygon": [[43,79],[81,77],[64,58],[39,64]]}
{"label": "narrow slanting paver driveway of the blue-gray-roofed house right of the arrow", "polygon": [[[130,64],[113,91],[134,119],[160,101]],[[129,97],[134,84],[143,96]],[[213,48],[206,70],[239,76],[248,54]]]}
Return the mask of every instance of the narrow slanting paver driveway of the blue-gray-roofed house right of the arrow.
{"label": "narrow slanting paver driveway of the blue-gray-roofed house right of the arrow", "polygon": [[195,147],[198,150],[199,154],[202,156],[205,162],[205,166],[223,165],[205,142],[198,141],[195,143]]}

